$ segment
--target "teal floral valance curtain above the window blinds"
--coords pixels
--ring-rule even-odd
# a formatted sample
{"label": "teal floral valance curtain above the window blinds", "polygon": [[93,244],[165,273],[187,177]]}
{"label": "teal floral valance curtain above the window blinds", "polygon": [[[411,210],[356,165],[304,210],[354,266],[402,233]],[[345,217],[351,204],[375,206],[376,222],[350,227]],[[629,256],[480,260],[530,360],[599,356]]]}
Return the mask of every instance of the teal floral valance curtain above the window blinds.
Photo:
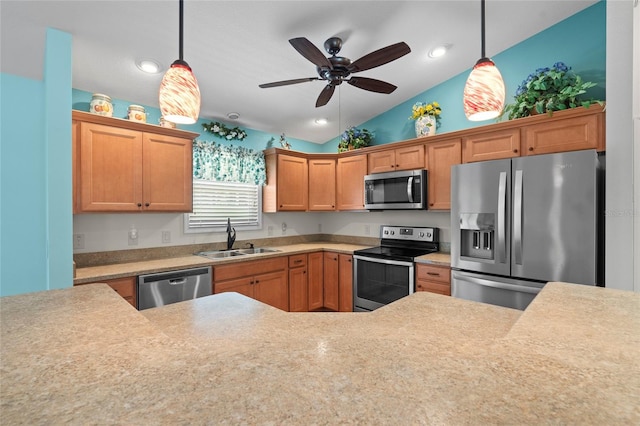
{"label": "teal floral valance curtain above the window blinds", "polygon": [[193,177],[216,182],[264,185],[264,153],[196,140],[193,143]]}

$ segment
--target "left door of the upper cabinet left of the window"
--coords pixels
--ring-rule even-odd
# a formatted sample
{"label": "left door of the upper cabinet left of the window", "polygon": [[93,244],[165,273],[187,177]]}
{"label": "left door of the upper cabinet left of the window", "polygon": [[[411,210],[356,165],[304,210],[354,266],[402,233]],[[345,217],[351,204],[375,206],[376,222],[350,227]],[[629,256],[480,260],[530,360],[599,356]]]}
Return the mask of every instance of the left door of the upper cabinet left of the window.
{"label": "left door of the upper cabinet left of the window", "polygon": [[81,123],[79,161],[80,211],[140,211],[141,132]]}

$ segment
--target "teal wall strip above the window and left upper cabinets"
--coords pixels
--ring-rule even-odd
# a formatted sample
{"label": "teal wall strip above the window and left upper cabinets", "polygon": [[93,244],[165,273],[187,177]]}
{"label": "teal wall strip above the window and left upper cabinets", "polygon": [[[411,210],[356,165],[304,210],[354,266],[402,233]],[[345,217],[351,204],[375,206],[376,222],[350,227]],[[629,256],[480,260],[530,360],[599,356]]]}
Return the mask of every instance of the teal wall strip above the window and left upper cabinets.
{"label": "teal wall strip above the window and left upper cabinets", "polygon": [[[73,89],[72,91],[73,109],[80,110],[80,111],[89,111],[89,103],[91,102],[91,96],[92,94],[89,92]],[[136,105],[140,105],[139,102],[124,100],[124,99],[114,99],[114,98],[111,99],[111,103],[113,104],[113,116],[119,117],[119,118],[127,117],[127,110],[130,104],[133,103]],[[145,111],[147,112],[147,123],[158,124],[158,120],[160,119],[160,109],[157,107],[149,106],[149,105],[143,105],[143,106]],[[203,123],[209,124],[212,121],[218,121],[229,128],[240,127],[242,130],[247,132],[247,137],[242,141],[239,141],[239,140],[228,141],[226,139],[220,138],[211,133],[205,132],[204,129],[202,128],[202,124]],[[242,126],[238,126],[237,124],[233,124],[232,122],[225,122],[217,119],[209,120],[209,119],[200,118],[198,122],[195,124],[190,124],[190,125],[181,124],[178,126],[178,128],[181,130],[188,130],[191,132],[200,133],[200,136],[197,138],[198,140],[213,141],[220,145],[243,146],[245,148],[251,148],[257,151],[262,151],[263,149],[272,148],[272,147],[280,148],[279,134],[275,135],[275,134],[266,133],[260,130],[249,129]],[[290,138],[286,135],[285,135],[285,138],[294,147],[296,151],[323,152],[324,147],[322,145],[319,145],[313,142],[304,141],[301,139]]]}

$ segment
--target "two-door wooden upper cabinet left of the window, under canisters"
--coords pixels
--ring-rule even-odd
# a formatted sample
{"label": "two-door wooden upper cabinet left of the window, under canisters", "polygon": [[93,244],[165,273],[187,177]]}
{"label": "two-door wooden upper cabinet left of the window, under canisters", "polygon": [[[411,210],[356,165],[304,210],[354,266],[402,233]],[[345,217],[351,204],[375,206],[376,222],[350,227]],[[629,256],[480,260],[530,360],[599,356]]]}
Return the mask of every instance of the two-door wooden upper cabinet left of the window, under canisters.
{"label": "two-door wooden upper cabinet left of the window, under canisters", "polygon": [[74,213],[190,212],[195,136],[73,111]]}

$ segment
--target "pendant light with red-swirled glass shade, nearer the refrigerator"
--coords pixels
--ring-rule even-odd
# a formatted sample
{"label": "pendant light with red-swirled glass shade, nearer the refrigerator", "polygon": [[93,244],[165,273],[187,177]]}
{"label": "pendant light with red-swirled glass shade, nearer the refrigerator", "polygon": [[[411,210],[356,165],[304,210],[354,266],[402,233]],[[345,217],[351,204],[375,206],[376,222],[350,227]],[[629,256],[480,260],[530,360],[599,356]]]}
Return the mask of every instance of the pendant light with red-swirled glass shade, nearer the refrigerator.
{"label": "pendant light with red-swirled glass shade, nearer the refrigerator", "polygon": [[471,121],[496,118],[504,107],[504,81],[493,61],[485,56],[484,43],[484,1],[482,8],[481,33],[482,57],[473,67],[464,86],[464,113]]}

